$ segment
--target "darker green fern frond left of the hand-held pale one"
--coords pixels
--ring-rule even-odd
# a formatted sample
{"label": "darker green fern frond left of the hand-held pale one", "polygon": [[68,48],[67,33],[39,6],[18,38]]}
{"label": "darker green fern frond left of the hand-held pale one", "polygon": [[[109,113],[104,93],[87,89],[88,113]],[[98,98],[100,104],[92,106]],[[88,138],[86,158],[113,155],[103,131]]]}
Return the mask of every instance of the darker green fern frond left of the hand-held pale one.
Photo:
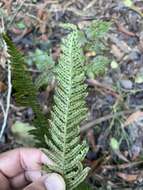
{"label": "darker green fern frond left of the hand-held pale one", "polygon": [[42,147],[45,145],[44,135],[48,131],[48,121],[42,114],[40,104],[37,99],[37,90],[32,82],[30,74],[26,71],[24,56],[16,48],[12,40],[7,34],[3,34],[3,39],[7,44],[8,53],[10,55],[12,66],[12,79],[14,88],[14,97],[16,103],[24,107],[31,107],[35,114],[33,125],[36,129],[31,130],[31,134],[35,137],[37,145]]}

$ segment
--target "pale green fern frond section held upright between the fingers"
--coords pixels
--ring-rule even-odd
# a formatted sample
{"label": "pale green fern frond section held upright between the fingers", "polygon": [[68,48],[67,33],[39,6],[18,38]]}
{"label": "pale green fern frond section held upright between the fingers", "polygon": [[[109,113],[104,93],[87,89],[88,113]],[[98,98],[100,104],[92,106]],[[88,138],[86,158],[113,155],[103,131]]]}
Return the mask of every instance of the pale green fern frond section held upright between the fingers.
{"label": "pale green fern frond section held upright between the fingers", "polygon": [[87,92],[79,31],[72,24],[64,27],[72,29],[72,32],[63,40],[61,46],[55,105],[49,121],[51,138],[46,138],[48,149],[45,152],[56,163],[54,167],[48,167],[60,173],[66,181],[67,190],[72,190],[85,179],[89,171],[89,168],[83,168],[82,165],[88,147],[85,141],[80,144],[79,127],[87,114]]}

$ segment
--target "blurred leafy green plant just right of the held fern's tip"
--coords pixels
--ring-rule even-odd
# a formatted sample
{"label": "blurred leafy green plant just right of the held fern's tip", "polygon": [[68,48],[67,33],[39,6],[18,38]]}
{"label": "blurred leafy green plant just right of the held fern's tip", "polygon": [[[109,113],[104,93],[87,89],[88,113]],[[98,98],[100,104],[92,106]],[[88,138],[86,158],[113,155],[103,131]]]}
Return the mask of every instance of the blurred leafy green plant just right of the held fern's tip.
{"label": "blurred leafy green plant just right of the held fern's tip", "polygon": [[[103,75],[110,63],[109,48],[106,43],[106,36],[111,27],[111,22],[94,20],[83,29],[83,50],[88,53],[86,56],[87,78],[97,78]],[[107,53],[108,52],[108,53]]]}

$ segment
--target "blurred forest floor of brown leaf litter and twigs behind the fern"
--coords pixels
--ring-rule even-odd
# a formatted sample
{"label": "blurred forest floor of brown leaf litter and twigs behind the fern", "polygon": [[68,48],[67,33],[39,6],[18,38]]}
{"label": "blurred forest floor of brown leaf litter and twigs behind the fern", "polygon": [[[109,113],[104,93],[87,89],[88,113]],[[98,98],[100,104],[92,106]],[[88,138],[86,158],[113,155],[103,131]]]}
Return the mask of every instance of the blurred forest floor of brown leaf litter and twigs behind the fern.
{"label": "blurred forest floor of brown leaf litter and twigs behind the fern", "polygon": [[[92,189],[142,189],[143,1],[1,0],[0,16],[4,18],[5,30],[24,53],[33,80],[40,73],[37,62],[50,59],[47,52],[55,63],[59,58],[64,36],[59,23],[74,23],[84,31],[100,21],[100,25],[93,24],[90,28],[88,38],[92,33],[96,38],[104,30],[104,22],[110,23],[108,31],[98,41],[95,39],[89,49],[84,49],[87,62],[93,65],[89,66],[86,80],[88,120],[81,126],[90,145],[86,158],[91,167],[88,181]],[[97,56],[109,62],[101,75],[94,70]],[[7,86],[5,74],[0,65],[0,97]],[[47,81],[50,81],[47,86],[40,84],[39,88],[39,101],[45,114],[51,110],[54,89],[51,80]],[[1,152],[23,145],[27,136],[12,132],[12,128],[20,121],[23,130],[28,125],[23,123],[32,118],[31,108],[18,107],[12,99],[7,130],[0,142]],[[0,123],[2,119],[0,115]]]}

